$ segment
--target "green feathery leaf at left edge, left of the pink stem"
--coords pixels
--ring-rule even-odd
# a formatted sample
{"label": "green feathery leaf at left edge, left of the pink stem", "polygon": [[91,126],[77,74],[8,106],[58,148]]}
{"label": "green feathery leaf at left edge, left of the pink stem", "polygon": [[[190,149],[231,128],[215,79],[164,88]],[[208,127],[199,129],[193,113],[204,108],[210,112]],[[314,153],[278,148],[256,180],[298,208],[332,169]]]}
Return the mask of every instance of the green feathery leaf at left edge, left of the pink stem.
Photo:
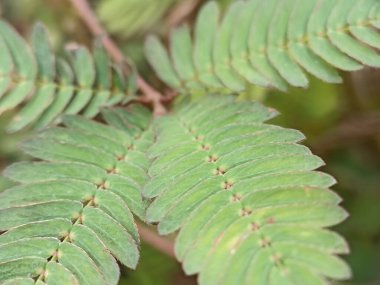
{"label": "green feathery leaf at left edge, left of the pink stem", "polygon": [[134,92],[118,66],[97,42],[94,56],[84,47],[55,59],[44,27],[36,25],[32,48],[7,23],[0,22],[0,114],[25,103],[9,131],[43,128],[60,122],[62,114],[94,117],[105,106],[126,100]]}

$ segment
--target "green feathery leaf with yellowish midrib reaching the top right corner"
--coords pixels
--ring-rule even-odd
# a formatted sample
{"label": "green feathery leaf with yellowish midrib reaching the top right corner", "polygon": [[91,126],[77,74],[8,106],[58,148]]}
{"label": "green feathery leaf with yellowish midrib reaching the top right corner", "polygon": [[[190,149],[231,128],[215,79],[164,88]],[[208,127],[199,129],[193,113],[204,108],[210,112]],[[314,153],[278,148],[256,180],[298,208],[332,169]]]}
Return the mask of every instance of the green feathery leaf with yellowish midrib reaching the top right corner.
{"label": "green feathery leaf with yellowish midrib reaching the top right corner", "polygon": [[[306,73],[341,82],[336,69],[380,67],[378,0],[240,0],[219,23],[216,2],[194,28],[175,29],[170,56],[157,37],[146,55],[158,76],[183,92],[241,92],[247,83],[306,87]],[[372,47],[372,48],[371,48]]]}

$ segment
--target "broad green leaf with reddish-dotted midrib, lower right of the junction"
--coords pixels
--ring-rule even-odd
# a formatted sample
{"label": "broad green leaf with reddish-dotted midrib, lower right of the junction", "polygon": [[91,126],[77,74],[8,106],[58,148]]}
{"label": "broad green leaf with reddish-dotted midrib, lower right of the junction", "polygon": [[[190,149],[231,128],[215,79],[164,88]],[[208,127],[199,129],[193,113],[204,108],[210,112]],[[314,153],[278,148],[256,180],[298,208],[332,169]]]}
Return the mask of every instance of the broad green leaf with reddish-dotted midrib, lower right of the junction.
{"label": "broad green leaf with reddish-dotted midrib, lower right of the junction", "polygon": [[275,111],[212,96],[157,121],[147,220],[180,230],[176,255],[199,284],[327,284],[346,279],[346,242],[324,229],[347,217],[335,180]]}

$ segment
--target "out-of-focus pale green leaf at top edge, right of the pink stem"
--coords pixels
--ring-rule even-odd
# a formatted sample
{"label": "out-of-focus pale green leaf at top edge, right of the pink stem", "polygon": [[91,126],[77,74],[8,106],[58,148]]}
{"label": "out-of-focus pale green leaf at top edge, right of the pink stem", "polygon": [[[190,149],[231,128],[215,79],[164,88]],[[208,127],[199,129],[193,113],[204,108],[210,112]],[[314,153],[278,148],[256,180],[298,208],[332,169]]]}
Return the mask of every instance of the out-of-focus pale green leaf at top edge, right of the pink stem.
{"label": "out-of-focus pale green leaf at top edge, right of the pink stem", "polygon": [[107,29],[123,37],[145,32],[178,0],[100,1],[97,14]]}

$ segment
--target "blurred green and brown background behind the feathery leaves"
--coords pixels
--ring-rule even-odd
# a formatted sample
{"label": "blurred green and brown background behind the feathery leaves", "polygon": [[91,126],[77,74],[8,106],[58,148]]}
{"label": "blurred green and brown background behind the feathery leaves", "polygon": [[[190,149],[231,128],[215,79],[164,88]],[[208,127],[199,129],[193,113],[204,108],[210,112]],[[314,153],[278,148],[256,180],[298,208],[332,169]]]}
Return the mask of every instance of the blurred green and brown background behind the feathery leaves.
{"label": "blurred green and brown background behind the feathery leaves", "polygon": [[[226,7],[233,0],[219,0]],[[202,0],[97,0],[90,1],[101,22],[131,58],[140,73],[157,87],[148,67],[142,43],[148,33],[166,37],[170,29],[191,22]],[[90,45],[92,37],[75,11],[64,0],[0,0],[1,18],[28,37],[34,22],[44,23],[57,53],[66,44]],[[343,198],[349,219],[336,228],[351,247],[346,257],[354,277],[341,285],[380,284],[380,70],[365,69],[342,74],[344,84],[330,85],[310,78],[307,90],[290,89],[288,94],[252,87],[241,100],[259,100],[281,115],[272,123],[302,131],[308,145],[326,162],[323,171],[338,184],[333,189]],[[25,159],[17,143],[29,134],[7,134],[10,113],[0,118],[0,172],[12,162]],[[11,182],[0,177],[0,191]],[[196,284],[185,277],[180,265],[142,246],[137,271],[123,271],[120,284]],[[305,284],[307,285],[307,284]]]}

